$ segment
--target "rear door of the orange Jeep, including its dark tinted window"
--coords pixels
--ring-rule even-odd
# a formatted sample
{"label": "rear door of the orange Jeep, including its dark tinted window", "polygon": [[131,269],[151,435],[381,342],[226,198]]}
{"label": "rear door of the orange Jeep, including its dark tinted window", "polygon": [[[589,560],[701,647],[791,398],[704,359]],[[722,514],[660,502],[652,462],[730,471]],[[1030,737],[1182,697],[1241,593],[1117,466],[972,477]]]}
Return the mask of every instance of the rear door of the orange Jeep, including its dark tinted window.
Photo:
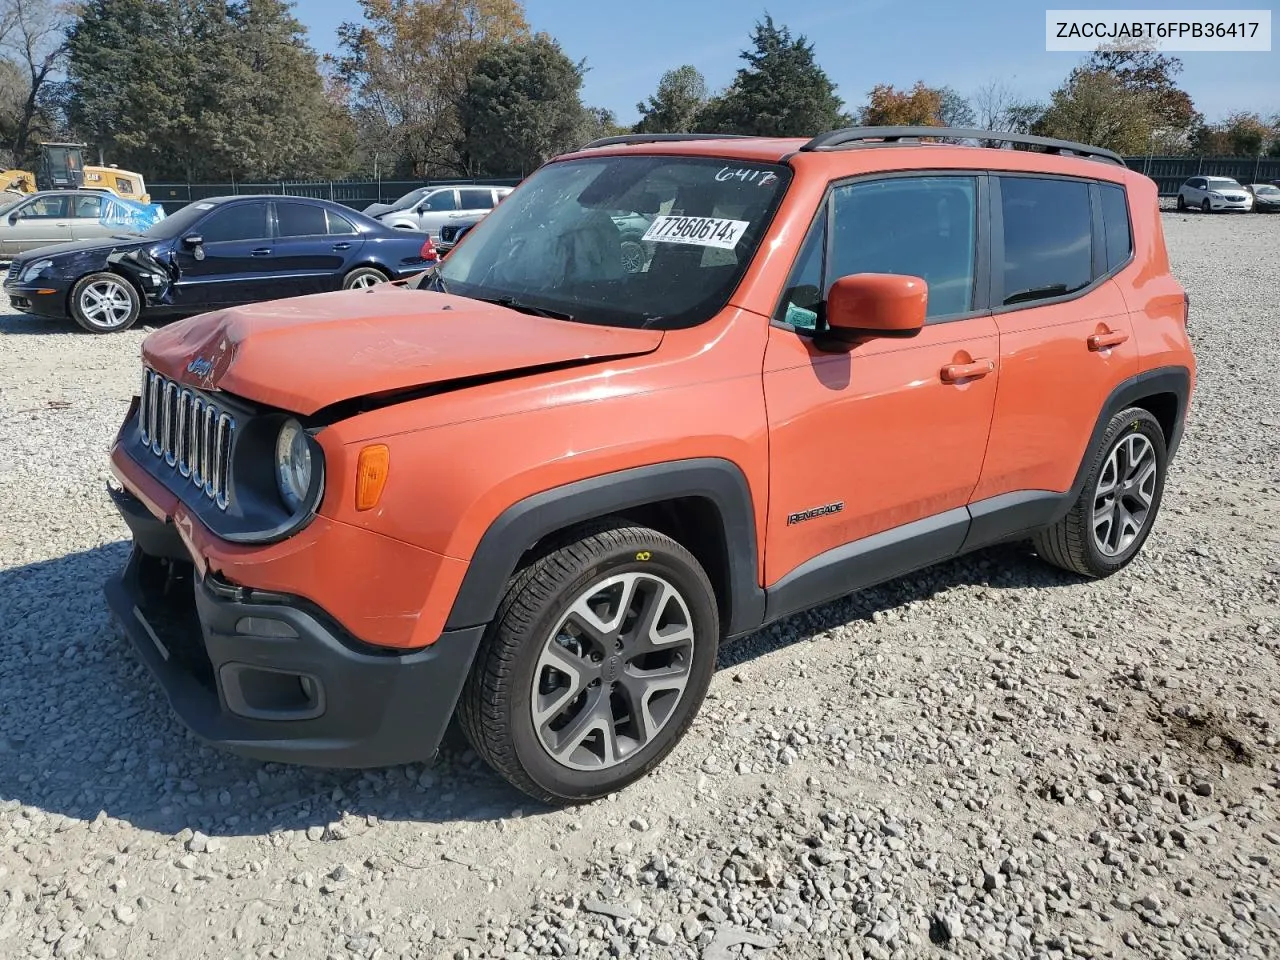
{"label": "rear door of the orange Jeep, including its dark tinted window", "polygon": [[1012,500],[1034,520],[1030,504],[1048,508],[1051,494],[1069,490],[1108,394],[1138,372],[1128,305],[1111,279],[1132,261],[1124,188],[1023,174],[992,177],[992,187],[1001,374],[975,527]]}

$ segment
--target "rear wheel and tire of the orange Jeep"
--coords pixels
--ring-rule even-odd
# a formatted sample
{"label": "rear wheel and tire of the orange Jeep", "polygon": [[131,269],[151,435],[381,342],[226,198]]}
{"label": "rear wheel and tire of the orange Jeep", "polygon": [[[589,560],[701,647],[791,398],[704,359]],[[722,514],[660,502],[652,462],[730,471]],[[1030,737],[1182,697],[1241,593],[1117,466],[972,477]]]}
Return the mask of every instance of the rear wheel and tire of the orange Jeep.
{"label": "rear wheel and tire of the orange Jeep", "polygon": [[[1156,524],[1167,468],[1165,434],[1156,417],[1140,407],[1120,411],[1107,424],[1080,495],[1062,520],[1036,535],[1036,552],[1055,567],[1087,577],[1126,567]],[[1134,479],[1140,483],[1130,485]],[[1121,490],[1108,497],[1106,490],[1116,481]],[[1110,522],[1105,520],[1108,500],[1114,504]],[[1119,526],[1117,509],[1126,517]]]}

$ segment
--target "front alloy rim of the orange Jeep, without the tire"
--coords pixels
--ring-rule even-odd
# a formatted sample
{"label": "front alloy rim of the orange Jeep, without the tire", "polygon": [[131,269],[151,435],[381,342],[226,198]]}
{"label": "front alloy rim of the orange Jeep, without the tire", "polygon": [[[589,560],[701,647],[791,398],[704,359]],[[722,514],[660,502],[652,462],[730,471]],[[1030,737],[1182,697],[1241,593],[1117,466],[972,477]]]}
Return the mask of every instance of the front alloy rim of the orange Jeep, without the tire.
{"label": "front alloy rim of the orange Jeep, without the tire", "polygon": [[577,771],[614,767],[675,716],[694,660],[689,604],[666,579],[620,573],[582,590],[534,669],[538,740]]}

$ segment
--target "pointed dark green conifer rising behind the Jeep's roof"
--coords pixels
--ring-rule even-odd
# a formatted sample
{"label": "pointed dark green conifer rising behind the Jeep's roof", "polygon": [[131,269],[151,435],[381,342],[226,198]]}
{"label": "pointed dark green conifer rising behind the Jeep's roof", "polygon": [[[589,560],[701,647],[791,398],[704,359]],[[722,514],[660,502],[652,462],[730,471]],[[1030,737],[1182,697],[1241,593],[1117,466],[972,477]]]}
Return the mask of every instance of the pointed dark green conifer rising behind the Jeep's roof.
{"label": "pointed dark green conifer rising behind the Jeep's roof", "polygon": [[765,15],[755,24],[751,47],[740,54],[746,67],[739,68],[728,90],[703,110],[699,131],[812,137],[849,123],[836,86],[814,60],[813,44],[804,36],[792,37]]}

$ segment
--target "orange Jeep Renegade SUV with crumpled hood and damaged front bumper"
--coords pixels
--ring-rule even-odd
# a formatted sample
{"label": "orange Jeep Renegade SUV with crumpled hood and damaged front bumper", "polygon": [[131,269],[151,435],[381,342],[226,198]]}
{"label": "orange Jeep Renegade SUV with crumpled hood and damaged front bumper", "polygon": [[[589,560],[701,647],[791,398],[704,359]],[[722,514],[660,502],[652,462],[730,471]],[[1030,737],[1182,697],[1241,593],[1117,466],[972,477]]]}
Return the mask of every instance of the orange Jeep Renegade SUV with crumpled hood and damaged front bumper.
{"label": "orange Jeep Renegade SUV with crumpled hood and damaged front bumper", "polygon": [[662,762],[727,640],[998,541],[1129,563],[1187,311],[1106,150],[595,141],[412,280],[152,333],[106,595],[218,746],[406,763],[457,714],[590,800]]}

